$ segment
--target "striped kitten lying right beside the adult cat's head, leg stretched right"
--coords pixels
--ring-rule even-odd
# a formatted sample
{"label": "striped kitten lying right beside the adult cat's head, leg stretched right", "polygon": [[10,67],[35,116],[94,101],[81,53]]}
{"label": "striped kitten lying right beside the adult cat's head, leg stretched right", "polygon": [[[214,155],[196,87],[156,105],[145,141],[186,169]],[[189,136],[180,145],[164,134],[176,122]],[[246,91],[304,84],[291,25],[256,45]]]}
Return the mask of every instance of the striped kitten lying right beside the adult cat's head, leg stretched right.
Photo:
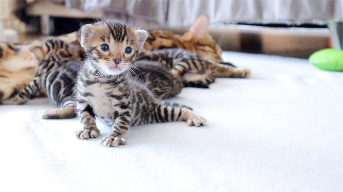
{"label": "striped kitten lying right beside the adult cat's head, leg stretched right", "polygon": [[[157,61],[167,67],[175,77],[182,77],[185,87],[208,88],[216,77],[249,77],[250,70],[231,63],[206,60],[200,55],[183,49],[143,51],[140,60]],[[197,74],[185,76],[185,74]]]}

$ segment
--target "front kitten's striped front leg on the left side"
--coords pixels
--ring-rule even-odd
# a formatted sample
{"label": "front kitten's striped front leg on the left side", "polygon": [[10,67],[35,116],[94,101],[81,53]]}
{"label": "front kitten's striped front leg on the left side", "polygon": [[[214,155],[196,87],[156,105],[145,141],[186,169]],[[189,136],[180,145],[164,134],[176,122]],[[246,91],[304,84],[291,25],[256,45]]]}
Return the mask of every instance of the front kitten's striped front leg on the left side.
{"label": "front kitten's striped front leg on the left side", "polygon": [[84,100],[77,101],[77,114],[83,126],[83,130],[76,131],[75,135],[79,139],[96,138],[100,130],[96,127],[95,114],[93,108]]}

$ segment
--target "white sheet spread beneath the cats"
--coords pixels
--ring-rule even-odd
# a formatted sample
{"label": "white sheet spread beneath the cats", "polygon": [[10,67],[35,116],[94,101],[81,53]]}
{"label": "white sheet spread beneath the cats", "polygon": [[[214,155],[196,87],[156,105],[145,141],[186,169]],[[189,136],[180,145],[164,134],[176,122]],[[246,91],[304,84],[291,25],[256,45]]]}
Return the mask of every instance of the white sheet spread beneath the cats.
{"label": "white sheet spread beneath the cats", "polygon": [[4,191],[342,191],[343,74],[305,59],[225,52],[250,79],[218,78],[171,101],[207,119],[133,127],[127,145],[43,120],[46,98],[0,106]]}

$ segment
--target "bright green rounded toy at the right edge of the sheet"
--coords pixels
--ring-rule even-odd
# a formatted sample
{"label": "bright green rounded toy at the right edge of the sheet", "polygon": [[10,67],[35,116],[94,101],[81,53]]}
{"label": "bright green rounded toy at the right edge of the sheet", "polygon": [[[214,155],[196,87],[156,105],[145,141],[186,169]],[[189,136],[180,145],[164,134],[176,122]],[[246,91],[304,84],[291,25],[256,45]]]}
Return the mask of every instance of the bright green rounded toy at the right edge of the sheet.
{"label": "bright green rounded toy at the right edge of the sheet", "polygon": [[309,61],[320,69],[343,71],[343,50],[319,50],[310,55]]}

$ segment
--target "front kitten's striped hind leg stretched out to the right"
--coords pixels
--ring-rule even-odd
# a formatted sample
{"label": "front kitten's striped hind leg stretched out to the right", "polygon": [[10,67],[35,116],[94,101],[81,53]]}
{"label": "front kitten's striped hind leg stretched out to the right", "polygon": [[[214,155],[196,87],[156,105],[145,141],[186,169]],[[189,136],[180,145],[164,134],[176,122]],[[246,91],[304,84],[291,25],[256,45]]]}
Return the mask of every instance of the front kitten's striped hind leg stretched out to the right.
{"label": "front kitten's striped hind leg stretched out to the right", "polygon": [[202,126],[206,124],[206,119],[195,112],[188,106],[162,102],[153,112],[156,122],[176,122],[185,121],[189,126]]}

